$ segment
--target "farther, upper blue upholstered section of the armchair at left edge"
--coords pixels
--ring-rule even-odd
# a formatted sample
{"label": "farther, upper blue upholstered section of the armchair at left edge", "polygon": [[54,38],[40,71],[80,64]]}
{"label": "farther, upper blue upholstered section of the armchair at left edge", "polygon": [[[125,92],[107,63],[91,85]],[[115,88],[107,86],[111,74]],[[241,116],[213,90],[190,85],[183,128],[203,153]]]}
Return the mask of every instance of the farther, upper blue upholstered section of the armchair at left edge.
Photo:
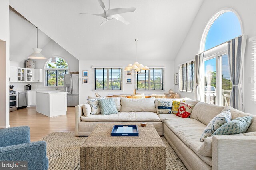
{"label": "farther, upper blue upholstered section of the armchair at left edge", "polygon": [[0,147],[28,142],[30,142],[30,128],[28,126],[10,127],[0,130]]}

